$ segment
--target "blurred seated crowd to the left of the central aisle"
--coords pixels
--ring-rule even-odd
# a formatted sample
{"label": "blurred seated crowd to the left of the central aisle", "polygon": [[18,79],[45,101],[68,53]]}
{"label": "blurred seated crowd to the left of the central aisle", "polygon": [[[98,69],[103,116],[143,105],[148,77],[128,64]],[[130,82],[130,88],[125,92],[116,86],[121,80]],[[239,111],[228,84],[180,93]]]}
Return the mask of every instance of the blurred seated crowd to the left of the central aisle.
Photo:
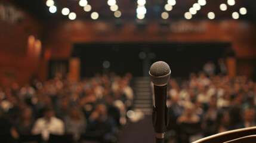
{"label": "blurred seated crowd to the left of the central aisle", "polygon": [[95,74],[75,82],[57,74],[45,82],[33,80],[20,87],[0,87],[0,136],[19,142],[24,136],[72,135],[98,142],[114,142],[127,122],[126,111],[134,98],[131,74],[124,77]]}

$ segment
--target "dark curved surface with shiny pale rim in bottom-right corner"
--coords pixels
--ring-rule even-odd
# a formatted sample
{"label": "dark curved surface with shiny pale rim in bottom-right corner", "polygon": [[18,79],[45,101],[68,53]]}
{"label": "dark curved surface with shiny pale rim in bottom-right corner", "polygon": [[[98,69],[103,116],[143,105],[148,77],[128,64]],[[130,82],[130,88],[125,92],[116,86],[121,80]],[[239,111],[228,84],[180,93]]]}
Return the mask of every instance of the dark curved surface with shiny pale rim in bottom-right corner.
{"label": "dark curved surface with shiny pale rim in bottom-right corner", "polygon": [[[199,139],[198,141],[195,141],[193,143],[217,143],[217,142],[228,142],[232,141],[233,139],[238,139],[240,142],[244,142],[242,137],[250,136],[250,135],[256,135],[256,127],[251,128],[243,128],[243,129],[236,129],[236,130],[230,130],[223,133],[217,133],[212,136],[208,136],[206,138]],[[240,140],[239,140],[240,138]],[[254,138],[254,136],[250,136],[248,139]],[[247,138],[244,138],[247,139]],[[235,143],[230,142],[230,143]],[[254,141],[255,142],[255,141]]]}

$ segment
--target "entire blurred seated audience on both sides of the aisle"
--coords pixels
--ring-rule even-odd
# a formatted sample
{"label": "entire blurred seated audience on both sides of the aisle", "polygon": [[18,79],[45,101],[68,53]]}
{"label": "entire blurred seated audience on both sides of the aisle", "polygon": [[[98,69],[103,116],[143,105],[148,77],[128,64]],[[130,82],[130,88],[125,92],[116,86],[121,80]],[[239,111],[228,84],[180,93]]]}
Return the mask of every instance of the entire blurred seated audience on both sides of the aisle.
{"label": "entire blurred seated audience on both sides of the aisle", "polygon": [[[205,72],[198,75],[190,73],[189,79],[169,80],[172,122],[168,130],[178,132],[183,123],[200,123],[207,136],[255,126],[256,83],[246,76],[226,76],[223,61],[219,63],[220,74],[214,74],[212,64],[206,64]],[[110,142],[116,129],[127,123],[126,112],[134,100],[131,78],[131,74],[121,77],[112,72],[75,82],[69,74],[57,74],[44,82],[35,80],[33,85],[0,87],[0,133],[16,139],[41,133],[45,140],[50,133],[67,133],[76,141],[83,135]]]}

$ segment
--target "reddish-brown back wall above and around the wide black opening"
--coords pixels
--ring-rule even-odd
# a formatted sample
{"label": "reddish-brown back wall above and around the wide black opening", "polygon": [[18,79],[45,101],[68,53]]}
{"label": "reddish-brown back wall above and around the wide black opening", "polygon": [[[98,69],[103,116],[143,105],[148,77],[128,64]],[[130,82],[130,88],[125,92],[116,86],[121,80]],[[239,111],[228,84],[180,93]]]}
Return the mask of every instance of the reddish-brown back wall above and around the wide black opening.
{"label": "reddish-brown back wall above and around the wide black opening", "polygon": [[147,21],[146,27],[142,28],[137,27],[134,21],[124,21],[121,27],[115,27],[114,21],[99,20],[48,23],[45,25],[48,36],[44,48],[52,50],[52,58],[69,58],[73,43],[230,42],[238,61],[236,73],[252,75],[256,60],[255,23],[243,20],[181,20],[163,27],[158,22]]}

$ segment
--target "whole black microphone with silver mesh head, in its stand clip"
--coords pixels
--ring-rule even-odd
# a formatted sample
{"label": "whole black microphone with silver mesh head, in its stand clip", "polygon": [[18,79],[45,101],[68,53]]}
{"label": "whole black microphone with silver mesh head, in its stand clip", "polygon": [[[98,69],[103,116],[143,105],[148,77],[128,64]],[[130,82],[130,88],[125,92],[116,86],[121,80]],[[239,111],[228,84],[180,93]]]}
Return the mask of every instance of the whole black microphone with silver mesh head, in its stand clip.
{"label": "whole black microphone with silver mesh head, in its stand clip", "polygon": [[154,84],[155,104],[153,105],[152,122],[156,132],[156,142],[164,143],[166,126],[169,121],[166,94],[171,70],[164,61],[157,61],[150,67],[149,75]]}

